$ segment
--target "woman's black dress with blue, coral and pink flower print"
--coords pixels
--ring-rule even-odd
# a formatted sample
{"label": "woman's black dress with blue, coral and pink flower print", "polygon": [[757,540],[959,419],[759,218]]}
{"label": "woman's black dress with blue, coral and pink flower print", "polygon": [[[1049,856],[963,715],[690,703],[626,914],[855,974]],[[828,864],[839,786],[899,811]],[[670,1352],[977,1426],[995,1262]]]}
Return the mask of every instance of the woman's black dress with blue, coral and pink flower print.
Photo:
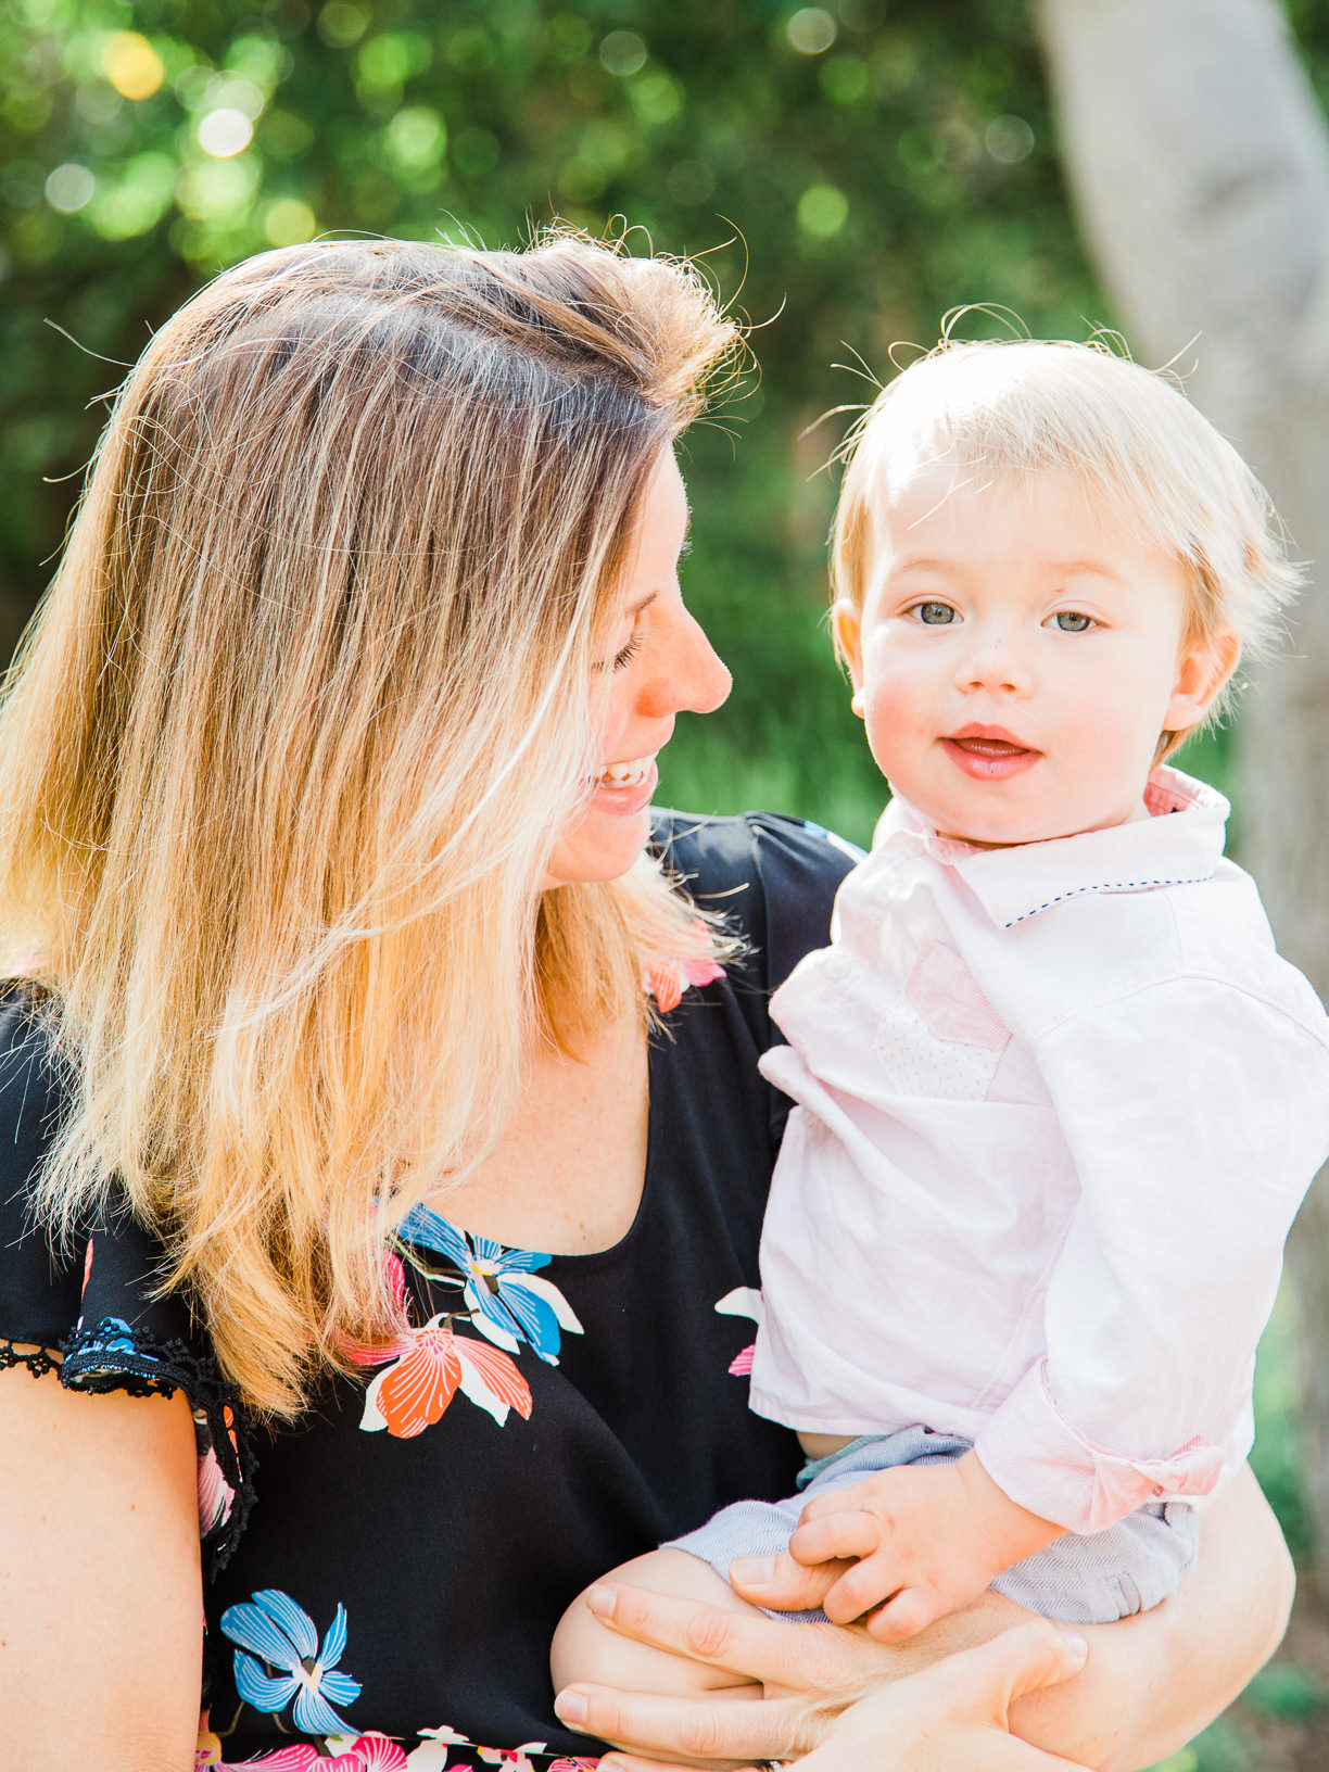
{"label": "woman's black dress with blue, coral and pink flower print", "polygon": [[[700,905],[750,943],[650,1051],[645,1189],[610,1249],[509,1249],[418,1209],[397,1334],[294,1426],[246,1419],[159,1249],[126,1214],[53,1260],[27,1212],[60,1084],[23,991],[0,1015],[0,1366],[76,1389],[184,1389],[198,1434],[198,1767],[572,1772],[549,1639],[597,1575],[741,1496],[789,1494],[794,1435],[751,1416],[757,1244],[787,1102],[757,1070],[767,996],[828,936],[847,845],[767,815],[666,815]],[[32,1352],[32,1348],[37,1352]]]}

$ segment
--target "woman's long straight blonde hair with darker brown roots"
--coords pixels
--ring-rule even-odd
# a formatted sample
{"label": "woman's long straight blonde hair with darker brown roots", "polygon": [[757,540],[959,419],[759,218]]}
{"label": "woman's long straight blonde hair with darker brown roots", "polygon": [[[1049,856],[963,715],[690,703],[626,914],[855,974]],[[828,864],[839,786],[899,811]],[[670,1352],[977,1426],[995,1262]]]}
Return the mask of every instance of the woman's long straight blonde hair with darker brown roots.
{"label": "woman's long straight blonde hair with darker brown roots", "polygon": [[532,1042],[688,939],[650,867],[539,886],[643,489],[734,344],[688,268],[581,237],[328,243],[227,271],[120,392],[0,711],[0,934],[71,1076],[41,1214],[120,1184],[260,1412],[383,1334],[386,1235]]}

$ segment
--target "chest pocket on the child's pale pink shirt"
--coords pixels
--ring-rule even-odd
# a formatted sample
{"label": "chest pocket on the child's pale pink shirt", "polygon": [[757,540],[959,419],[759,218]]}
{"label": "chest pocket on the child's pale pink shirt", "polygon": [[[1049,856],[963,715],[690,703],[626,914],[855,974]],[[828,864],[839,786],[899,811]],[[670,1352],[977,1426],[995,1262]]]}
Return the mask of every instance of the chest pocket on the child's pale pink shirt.
{"label": "chest pocket on the child's pale pink shirt", "polygon": [[1010,1030],[959,953],[925,941],[874,1051],[900,1095],[983,1100],[1008,1045]]}

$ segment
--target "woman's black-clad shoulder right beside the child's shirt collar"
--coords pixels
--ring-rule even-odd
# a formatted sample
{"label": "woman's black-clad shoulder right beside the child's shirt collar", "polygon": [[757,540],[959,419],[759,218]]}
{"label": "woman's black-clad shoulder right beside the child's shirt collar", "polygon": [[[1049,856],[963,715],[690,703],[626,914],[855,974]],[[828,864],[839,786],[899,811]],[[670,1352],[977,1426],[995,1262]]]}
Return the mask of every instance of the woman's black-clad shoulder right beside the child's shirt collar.
{"label": "woman's black-clad shoulder right beside the child's shirt collar", "polygon": [[725,819],[657,812],[654,847],[698,905],[721,911],[744,936],[767,991],[826,944],[835,895],[861,859],[820,824],[773,812]]}

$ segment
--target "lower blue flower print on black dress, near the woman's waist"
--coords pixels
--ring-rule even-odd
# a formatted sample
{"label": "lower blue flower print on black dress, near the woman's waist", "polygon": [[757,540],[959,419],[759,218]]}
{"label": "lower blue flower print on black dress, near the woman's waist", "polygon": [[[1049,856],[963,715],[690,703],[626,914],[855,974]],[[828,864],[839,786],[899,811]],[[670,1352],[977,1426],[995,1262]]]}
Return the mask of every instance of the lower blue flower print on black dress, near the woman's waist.
{"label": "lower blue flower print on black dress, near the woman's waist", "polygon": [[[328,1703],[351,1705],[360,1698],[360,1682],[337,1669],[346,1650],[344,1605],[338,1604],[319,1644],[308,1613],[289,1593],[264,1588],[250,1602],[227,1607],[222,1634],[239,1643],[236,1690],[246,1705],[275,1715],[294,1698],[296,1728],[305,1735],[354,1735],[354,1728]],[[253,1653],[246,1655],[246,1650]],[[268,1673],[255,1655],[266,1662]]]}

